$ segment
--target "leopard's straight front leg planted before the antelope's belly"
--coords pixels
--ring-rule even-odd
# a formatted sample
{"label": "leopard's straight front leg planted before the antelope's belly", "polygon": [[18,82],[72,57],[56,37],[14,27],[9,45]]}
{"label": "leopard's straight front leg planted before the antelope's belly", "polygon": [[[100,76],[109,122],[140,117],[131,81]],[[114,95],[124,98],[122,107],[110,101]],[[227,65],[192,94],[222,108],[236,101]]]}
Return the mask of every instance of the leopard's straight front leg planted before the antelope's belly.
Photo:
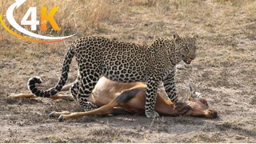
{"label": "leopard's straight front leg planted before the antelope's belly", "polygon": [[150,78],[147,82],[146,88],[146,104],[145,104],[145,114],[146,118],[159,117],[159,114],[154,110],[157,91],[158,91],[159,81]]}

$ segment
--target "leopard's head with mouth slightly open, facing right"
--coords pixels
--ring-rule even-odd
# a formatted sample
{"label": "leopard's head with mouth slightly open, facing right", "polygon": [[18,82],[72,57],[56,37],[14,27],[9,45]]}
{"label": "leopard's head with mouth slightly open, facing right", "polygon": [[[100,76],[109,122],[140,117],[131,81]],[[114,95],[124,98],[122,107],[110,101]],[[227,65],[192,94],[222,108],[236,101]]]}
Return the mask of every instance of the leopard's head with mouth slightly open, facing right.
{"label": "leopard's head with mouth slightly open, facing right", "polygon": [[174,34],[175,49],[179,51],[183,62],[190,64],[196,57],[198,34],[194,34],[193,37],[180,37],[178,34]]}

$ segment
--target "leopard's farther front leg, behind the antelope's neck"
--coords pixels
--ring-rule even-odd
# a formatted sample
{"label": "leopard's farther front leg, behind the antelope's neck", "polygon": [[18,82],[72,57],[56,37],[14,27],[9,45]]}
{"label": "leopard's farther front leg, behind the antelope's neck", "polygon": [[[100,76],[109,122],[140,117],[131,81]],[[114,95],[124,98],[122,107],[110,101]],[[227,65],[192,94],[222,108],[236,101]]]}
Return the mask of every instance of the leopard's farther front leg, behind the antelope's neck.
{"label": "leopard's farther front leg, behind the antelope's neck", "polygon": [[177,102],[178,96],[176,93],[176,86],[175,86],[175,69],[167,75],[167,77],[162,81],[163,86],[166,89],[166,94],[168,98],[170,98],[171,102]]}

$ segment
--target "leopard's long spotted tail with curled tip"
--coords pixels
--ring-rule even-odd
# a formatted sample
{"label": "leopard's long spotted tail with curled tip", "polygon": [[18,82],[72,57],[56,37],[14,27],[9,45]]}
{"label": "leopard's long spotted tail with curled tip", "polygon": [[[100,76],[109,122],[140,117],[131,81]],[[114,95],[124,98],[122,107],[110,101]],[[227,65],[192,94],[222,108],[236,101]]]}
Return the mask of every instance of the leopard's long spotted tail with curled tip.
{"label": "leopard's long spotted tail with curled tip", "polygon": [[73,57],[74,57],[74,45],[70,46],[69,50],[66,53],[66,57],[64,59],[64,63],[62,66],[62,77],[59,79],[58,84],[53,88],[51,88],[50,90],[46,90],[46,91],[38,90],[35,84],[42,83],[42,79],[38,77],[30,78],[27,83],[27,86],[30,92],[38,97],[49,98],[50,96],[57,94],[60,90],[62,90],[62,87],[65,85],[66,80],[68,78],[68,73],[70,71],[70,63]]}

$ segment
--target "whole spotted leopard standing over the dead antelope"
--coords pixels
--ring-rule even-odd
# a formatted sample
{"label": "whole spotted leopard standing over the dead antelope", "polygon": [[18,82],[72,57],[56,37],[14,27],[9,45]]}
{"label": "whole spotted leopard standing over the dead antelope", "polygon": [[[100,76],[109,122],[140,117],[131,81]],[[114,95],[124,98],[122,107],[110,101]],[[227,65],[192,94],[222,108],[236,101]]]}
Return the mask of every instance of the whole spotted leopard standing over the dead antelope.
{"label": "whole spotted leopard standing over the dead antelope", "polygon": [[38,97],[49,98],[65,85],[70,63],[75,57],[78,65],[78,80],[70,88],[71,94],[85,111],[96,106],[87,99],[102,76],[114,82],[145,82],[147,118],[158,117],[154,110],[156,94],[161,85],[168,98],[177,102],[175,66],[178,62],[190,64],[196,58],[198,34],[192,36],[173,34],[170,38],[156,38],[150,45],[119,42],[116,39],[88,36],[74,41],[66,52],[61,78],[49,90],[39,90],[39,77],[30,78],[27,86]]}

